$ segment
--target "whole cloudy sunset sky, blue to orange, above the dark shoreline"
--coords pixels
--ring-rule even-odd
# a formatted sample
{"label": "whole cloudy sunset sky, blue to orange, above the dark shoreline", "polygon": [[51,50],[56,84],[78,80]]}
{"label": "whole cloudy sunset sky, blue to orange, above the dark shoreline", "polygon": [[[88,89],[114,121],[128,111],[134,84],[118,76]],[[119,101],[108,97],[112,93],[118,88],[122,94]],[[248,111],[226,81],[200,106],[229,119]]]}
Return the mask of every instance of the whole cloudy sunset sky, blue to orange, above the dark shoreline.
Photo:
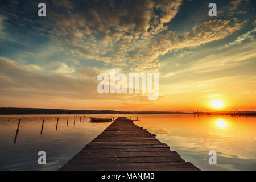
{"label": "whole cloudy sunset sky, blue to orange, above the dark shoreline", "polygon": [[[46,4],[46,17],[38,4]],[[217,16],[208,15],[216,3]],[[1,1],[0,107],[256,110],[255,1]],[[159,73],[159,97],[97,91]],[[210,102],[220,100],[221,109]]]}

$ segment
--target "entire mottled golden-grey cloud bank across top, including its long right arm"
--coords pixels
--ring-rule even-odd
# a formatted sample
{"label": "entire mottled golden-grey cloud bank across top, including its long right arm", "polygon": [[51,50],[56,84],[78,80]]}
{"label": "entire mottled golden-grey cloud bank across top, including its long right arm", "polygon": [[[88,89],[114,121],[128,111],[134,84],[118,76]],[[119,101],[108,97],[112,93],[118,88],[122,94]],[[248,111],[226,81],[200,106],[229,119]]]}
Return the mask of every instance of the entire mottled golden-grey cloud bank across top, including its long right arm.
{"label": "entire mottled golden-grey cloud bank across top, including its long right arm", "polygon": [[[36,6],[35,1],[26,2],[12,5]],[[182,3],[181,0],[50,1],[46,2],[47,18],[24,14],[11,16],[10,21],[20,26],[29,23],[36,34],[48,36],[63,49],[66,46],[64,51],[83,59],[130,69],[160,67],[160,55],[220,40],[242,28],[243,22],[236,19],[215,19],[179,35],[167,23],[175,18]],[[226,9],[236,10],[240,3],[232,1]],[[4,12],[13,14],[7,7]],[[67,70],[63,64],[57,72],[71,73],[72,69]]]}

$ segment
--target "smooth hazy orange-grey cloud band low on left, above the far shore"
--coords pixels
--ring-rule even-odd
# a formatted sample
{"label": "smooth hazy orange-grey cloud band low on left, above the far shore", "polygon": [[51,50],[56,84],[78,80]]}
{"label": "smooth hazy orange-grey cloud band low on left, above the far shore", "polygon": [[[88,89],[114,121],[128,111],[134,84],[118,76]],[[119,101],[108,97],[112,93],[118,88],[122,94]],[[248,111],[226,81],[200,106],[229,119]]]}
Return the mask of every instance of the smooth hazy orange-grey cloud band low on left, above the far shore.
{"label": "smooth hazy orange-grey cloud band low on left, above the far shore", "polygon": [[[27,100],[35,98],[62,98],[80,100],[123,100],[128,102],[150,103],[147,94],[100,94],[97,91],[98,74],[109,70],[94,67],[69,68],[62,63],[54,71],[43,70],[36,65],[16,63],[5,57],[0,57],[0,98],[22,97]],[[78,76],[71,76],[75,72]],[[117,69],[117,73],[120,70]],[[163,98],[159,96],[158,100]]]}

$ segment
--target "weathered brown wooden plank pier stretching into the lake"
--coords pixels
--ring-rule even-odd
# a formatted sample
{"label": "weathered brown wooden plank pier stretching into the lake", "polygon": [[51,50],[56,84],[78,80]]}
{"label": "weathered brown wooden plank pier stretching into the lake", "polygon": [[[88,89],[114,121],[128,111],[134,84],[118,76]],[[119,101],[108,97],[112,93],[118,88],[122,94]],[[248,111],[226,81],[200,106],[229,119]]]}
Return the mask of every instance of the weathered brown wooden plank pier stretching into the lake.
{"label": "weathered brown wooden plank pier stretching into the lake", "polygon": [[119,117],[60,170],[199,170],[155,135]]}

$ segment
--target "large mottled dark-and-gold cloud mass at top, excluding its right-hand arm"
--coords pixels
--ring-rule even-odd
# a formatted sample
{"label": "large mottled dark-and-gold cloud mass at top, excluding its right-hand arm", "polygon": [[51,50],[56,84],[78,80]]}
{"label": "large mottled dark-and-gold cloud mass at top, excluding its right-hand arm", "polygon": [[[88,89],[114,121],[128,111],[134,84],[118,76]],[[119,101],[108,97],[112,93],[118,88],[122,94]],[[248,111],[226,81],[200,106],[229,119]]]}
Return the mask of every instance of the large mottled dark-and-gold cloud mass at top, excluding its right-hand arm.
{"label": "large mottled dark-and-gold cloud mass at top, excluding its right-hand arm", "polygon": [[[175,17],[182,1],[78,1],[76,4],[68,0],[50,1],[46,2],[45,19],[36,18],[37,9],[33,8],[31,13],[35,14],[32,16],[26,13],[21,17],[14,16],[15,13],[9,11],[10,7],[14,10],[37,7],[36,3],[13,1],[3,7],[3,13],[10,16],[9,22],[19,26],[29,23],[35,34],[68,46],[76,55],[127,67],[133,45],[167,30],[164,23]],[[152,63],[151,67],[155,65]]]}

